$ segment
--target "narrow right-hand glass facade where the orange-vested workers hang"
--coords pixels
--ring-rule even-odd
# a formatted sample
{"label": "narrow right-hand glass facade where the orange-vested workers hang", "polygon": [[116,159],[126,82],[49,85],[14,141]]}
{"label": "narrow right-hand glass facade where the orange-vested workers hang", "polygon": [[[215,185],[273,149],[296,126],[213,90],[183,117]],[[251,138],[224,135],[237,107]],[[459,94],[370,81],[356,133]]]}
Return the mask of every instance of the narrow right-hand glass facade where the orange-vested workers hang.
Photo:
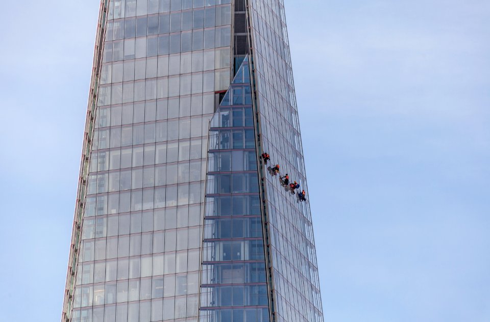
{"label": "narrow right-hand glass facade where the orange-vested workers hang", "polygon": [[[282,0],[249,0],[263,151],[308,192]],[[309,203],[266,175],[276,320],[323,322]]]}

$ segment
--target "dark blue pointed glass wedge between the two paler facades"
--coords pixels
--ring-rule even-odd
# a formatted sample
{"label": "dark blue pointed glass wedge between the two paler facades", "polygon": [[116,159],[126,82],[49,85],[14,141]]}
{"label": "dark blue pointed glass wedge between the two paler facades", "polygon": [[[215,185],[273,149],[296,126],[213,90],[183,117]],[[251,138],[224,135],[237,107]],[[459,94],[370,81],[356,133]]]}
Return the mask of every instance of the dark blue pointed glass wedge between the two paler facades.
{"label": "dark blue pointed glass wedge between the two paler facades", "polygon": [[269,321],[246,58],[210,123],[201,322]]}

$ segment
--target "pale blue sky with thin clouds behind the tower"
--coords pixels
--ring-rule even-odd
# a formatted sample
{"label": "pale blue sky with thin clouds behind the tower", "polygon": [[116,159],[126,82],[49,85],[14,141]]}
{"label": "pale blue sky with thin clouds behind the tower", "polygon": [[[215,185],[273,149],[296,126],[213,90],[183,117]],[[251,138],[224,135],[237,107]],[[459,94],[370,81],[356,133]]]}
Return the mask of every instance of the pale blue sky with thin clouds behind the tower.
{"label": "pale blue sky with thin clouds behind the tower", "polygon": [[[285,2],[325,321],[490,321],[490,2]],[[99,2],[4,9],[0,322],[51,322]]]}

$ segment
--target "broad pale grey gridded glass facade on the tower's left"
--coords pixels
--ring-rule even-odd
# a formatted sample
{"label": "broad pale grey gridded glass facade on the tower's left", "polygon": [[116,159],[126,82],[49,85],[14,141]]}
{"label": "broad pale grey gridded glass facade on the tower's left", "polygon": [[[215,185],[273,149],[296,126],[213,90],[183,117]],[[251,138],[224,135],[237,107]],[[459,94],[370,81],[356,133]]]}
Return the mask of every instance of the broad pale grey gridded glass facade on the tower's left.
{"label": "broad pale grey gridded glass facade on the tower's left", "polygon": [[73,321],[197,321],[230,24],[230,0],[110,2]]}

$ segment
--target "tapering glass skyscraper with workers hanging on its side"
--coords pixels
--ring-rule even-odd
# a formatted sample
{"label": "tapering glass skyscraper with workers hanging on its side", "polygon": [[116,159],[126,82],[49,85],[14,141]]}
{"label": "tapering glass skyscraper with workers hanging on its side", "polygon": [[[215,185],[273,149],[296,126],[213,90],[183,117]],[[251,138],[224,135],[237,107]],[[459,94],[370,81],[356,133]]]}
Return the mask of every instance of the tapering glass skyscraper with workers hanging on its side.
{"label": "tapering glass skyscraper with workers hanging on its side", "polygon": [[62,321],[323,321],[283,1],[102,0],[93,66]]}

